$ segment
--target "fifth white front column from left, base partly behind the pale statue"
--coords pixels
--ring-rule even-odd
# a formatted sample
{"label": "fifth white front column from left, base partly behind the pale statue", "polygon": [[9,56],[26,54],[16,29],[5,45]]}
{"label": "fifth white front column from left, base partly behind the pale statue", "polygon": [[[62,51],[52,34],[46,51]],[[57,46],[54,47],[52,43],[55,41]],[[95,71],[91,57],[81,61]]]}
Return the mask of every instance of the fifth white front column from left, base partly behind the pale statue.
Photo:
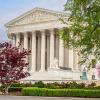
{"label": "fifth white front column from left, base partly behind the pale statue", "polygon": [[53,66],[54,62],[54,30],[50,30],[50,68]]}

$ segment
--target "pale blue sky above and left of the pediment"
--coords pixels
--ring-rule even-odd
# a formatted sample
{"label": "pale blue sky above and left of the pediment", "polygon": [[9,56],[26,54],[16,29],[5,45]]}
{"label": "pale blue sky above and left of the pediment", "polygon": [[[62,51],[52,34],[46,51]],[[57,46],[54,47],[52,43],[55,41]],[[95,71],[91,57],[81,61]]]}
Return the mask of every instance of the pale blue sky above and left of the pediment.
{"label": "pale blue sky above and left of the pediment", "polygon": [[0,0],[0,42],[7,41],[4,24],[34,7],[62,11],[67,0]]}

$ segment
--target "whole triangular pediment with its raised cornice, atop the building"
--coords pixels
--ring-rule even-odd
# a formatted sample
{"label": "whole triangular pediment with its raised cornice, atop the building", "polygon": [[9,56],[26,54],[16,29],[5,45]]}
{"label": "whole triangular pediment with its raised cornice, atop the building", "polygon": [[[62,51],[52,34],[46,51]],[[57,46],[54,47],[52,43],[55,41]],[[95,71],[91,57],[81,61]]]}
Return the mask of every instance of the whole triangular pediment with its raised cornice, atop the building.
{"label": "whole triangular pediment with its raised cornice, atop the building", "polygon": [[52,11],[43,8],[34,8],[31,11],[28,11],[25,14],[8,22],[6,26],[43,23],[47,21],[58,20],[61,16],[65,17],[67,15],[63,12]]}

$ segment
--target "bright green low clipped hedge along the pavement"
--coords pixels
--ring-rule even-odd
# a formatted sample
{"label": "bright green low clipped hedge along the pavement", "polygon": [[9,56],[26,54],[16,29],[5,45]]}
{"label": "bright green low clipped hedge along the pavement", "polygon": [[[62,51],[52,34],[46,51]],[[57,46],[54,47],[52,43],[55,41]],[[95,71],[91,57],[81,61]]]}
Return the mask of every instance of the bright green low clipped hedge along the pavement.
{"label": "bright green low clipped hedge along the pavement", "polygon": [[24,96],[52,96],[52,97],[100,97],[100,89],[47,89],[27,87],[22,89]]}

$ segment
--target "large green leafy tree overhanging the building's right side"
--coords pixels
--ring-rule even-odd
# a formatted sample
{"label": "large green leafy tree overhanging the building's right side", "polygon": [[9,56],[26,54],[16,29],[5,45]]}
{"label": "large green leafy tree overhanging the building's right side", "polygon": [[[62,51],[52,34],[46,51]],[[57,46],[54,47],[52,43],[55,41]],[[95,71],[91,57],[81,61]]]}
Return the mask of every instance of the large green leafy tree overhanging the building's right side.
{"label": "large green leafy tree overhanging the building's right side", "polygon": [[67,0],[65,11],[70,11],[69,26],[60,30],[68,48],[78,50],[80,64],[95,67],[100,61],[100,0]]}

